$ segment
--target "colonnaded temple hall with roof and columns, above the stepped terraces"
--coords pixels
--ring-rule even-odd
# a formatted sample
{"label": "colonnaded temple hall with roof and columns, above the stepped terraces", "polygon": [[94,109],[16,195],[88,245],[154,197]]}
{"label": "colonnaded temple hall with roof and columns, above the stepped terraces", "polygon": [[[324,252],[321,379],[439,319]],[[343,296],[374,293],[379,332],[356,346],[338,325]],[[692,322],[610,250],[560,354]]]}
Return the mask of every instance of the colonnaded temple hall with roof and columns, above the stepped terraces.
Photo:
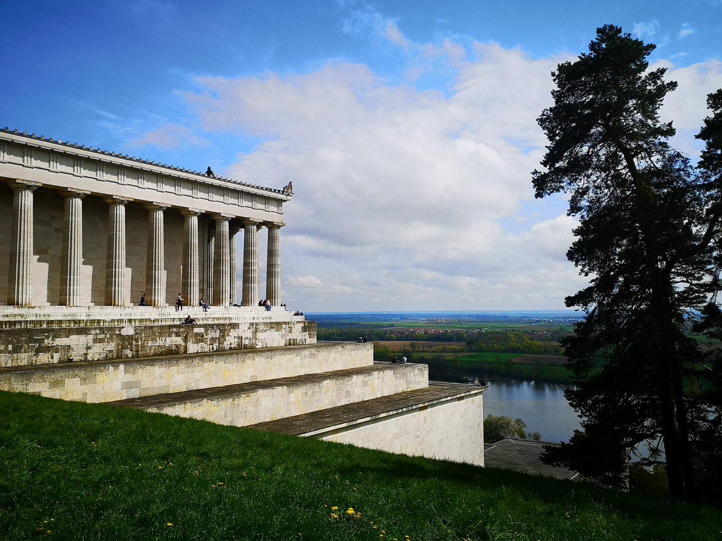
{"label": "colonnaded temple hall with roof and columns, above the stepped terraces", "polygon": [[[274,190],[54,141],[0,135],[0,304],[258,304],[258,232],[268,232],[264,298],[280,304]],[[243,294],[236,235],[243,231]]]}

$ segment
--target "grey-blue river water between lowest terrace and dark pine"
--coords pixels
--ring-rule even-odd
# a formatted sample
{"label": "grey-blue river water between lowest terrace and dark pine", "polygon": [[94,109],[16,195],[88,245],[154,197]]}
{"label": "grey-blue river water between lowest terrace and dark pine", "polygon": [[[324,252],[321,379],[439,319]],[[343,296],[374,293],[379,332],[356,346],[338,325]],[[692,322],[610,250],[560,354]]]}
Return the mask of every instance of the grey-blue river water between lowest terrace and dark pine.
{"label": "grey-blue river water between lowest terrace and dark pine", "polygon": [[569,441],[580,419],[564,397],[565,385],[555,383],[489,382],[484,391],[484,417],[521,418],[526,430],[540,432],[544,441]]}

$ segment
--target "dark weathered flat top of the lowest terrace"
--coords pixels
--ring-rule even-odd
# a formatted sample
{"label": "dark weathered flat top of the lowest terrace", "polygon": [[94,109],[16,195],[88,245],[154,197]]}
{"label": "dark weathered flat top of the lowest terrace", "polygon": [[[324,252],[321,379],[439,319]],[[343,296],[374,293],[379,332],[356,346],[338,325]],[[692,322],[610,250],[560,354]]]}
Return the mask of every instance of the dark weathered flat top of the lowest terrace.
{"label": "dark weathered flat top of the lowest terrace", "polygon": [[304,413],[277,421],[257,423],[248,428],[292,436],[323,438],[343,428],[361,426],[364,423],[381,418],[391,418],[413,410],[425,410],[452,400],[464,400],[471,395],[481,395],[487,388],[457,383],[429,382],[429,387],[424,389],[373,398],[360,403],[340,405],[336,408]]}

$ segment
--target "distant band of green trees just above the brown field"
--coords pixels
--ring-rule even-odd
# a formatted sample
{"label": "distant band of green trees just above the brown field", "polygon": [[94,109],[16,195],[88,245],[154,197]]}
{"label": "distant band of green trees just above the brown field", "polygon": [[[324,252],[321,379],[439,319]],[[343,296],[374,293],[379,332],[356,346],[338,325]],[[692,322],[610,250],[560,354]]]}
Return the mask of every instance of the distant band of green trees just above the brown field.
{"label": "distant band of green trees just above the brown field", "polygon": [[[564,331],[556,330],[537,339],[521,330],[487,330],[484,332],[465,330],[444,330],[439,333],[425,330],[375,330],[370,327],[329,327],[317,330],[318,340],[357,340],[360,336],[369,341],[409,340],[414,342],[460,342],[466,351],[476,353],[541,353],[544,355],[561,355],[562,348],[556,343],[564,335]],[[459,344],[461,346],[461,344]]]}

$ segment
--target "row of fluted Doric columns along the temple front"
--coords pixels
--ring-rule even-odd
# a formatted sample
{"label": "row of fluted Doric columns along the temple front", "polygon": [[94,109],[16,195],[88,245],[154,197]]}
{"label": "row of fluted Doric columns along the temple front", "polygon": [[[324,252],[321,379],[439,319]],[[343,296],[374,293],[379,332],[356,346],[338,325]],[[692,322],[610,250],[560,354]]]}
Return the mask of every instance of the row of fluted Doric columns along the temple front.
{"label": "row of fluted Doric columns along the temple front", "polygon": [[[10,269],[8,304],[32,305],[32,234],[33,234],[33,192],[38,182],[17,180],[11,186],[14,190],[12,231],[10,246]],[[62,192],[65,198],[63,246],[61,252],[60,304],[80,306],[82,304],[82,198],[84,190],[69,188]],[[126,204],[130,198],[109,196],[108,203],[108,259],[105,274],[105,304],[123,306],[126,291]],[[163,212],[167,206],[161,203],[147,203],[148,210],[148,252],[146,260],[146,304],[165,304],[165,242],[163,239]],[[202,211],[188,208],[181,211],[183,224],[183,269],[181,289],[188,306],[197,306],[200,300],[199,272],[199,228],[198,217]],[[232,216],[217,214],[209,250],[209,287],[206,302],[227,306],[236,298],[237,258],[235,235],[240,227],[229,227]],[[258,229],[266,226],[269,230],[268,265],[266,276],[266,297],[271,304],[281,303],[281,268],[279,229],[282,224],[254,220],[243,221],[243,306],[258,304]]]}

